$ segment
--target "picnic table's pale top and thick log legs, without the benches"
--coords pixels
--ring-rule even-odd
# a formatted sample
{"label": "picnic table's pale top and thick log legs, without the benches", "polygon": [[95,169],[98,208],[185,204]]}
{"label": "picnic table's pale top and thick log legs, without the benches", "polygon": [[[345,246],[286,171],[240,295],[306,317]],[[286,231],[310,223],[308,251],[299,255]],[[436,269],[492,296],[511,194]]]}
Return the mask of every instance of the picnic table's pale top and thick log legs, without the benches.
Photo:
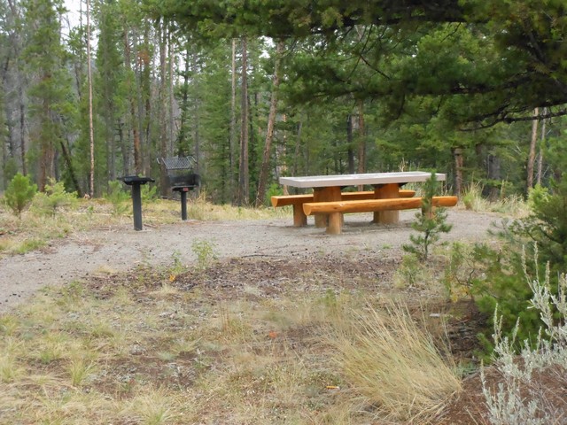
{"label": "picnic table's pale top and thick log legs, without the benches", "polygon": [[[368,174],[337,174],[337,175],[313,175],[299,177],[280,177],[282,185],[314,191],[314,202],[341,201],[341,189],[348,186],[370,185],[374,187],[374,199],[390,199],[400,197],[400,187],[410,182],[425,182],[431,177],[431,173],[425,171],[404,171],[393,173],[368,173]],[[439,182],[446,180],[445,174],[436,174]],[[374,222],[397,223],[400,220],[400,212],[377,211],[374,213]],[[315,216],[316,227],[327,226],[327,216]]]}

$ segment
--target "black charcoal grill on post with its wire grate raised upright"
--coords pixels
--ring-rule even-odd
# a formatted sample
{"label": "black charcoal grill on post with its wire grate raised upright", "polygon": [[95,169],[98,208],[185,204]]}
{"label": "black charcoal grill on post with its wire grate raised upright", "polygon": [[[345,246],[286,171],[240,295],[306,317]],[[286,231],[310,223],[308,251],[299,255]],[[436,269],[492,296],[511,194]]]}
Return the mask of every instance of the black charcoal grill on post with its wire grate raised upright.
{"label": "black charcoal grill on post with its wire grate raised upright", "polygon": [[181,195],[181,220],[187,220],[187,193],[201,185],[201,178],[195,173],[197,160],[193,157],[158,158],[158,164],[166,168],[169,187]]}

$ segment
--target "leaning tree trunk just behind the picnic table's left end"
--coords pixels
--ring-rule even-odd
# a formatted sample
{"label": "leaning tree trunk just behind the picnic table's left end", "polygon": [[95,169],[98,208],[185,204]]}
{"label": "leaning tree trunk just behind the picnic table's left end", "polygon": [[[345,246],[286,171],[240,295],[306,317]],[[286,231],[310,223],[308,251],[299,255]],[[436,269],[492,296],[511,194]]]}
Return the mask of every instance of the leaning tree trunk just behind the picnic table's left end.
{"label": "leaning tree trunk just behind the picnic table's left end", "polygon": [[270,157],[272,152],[272,141],[274,139],[274,126],[276,124],[277,112],[277,94],[280,87],[280,62],[283,53],[283,41],[277,42],[276,45],[276,65],[274,67],[274,80],[272,83],[272,97],[269,103],[268,113],[268,127],[266,128],[266,141],[264,143],[264,154],[262,156],[262,163],[260,166],[260,178],[258,182],[258,190],[256,192],[256,206],[264,203],[266,197],[266,186],[268,182],[268,171],[270,164]]}

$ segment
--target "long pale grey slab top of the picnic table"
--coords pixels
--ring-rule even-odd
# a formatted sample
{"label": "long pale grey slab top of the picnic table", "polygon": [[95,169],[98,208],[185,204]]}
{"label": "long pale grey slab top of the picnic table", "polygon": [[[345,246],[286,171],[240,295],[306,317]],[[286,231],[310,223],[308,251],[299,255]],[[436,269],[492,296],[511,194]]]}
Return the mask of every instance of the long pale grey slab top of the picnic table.
{"label": "long pale grey slab top of the picnic table", "polygon": [[[445,174],[436,173],[437,180],[446,179]],[[358,186],[361,184],[387,184],[425,182],[431,177],[426,171],[402,171],[395,173],[311,175],[302,177],[280,177],[280,184],[294,188],[324,188],[330,186]]]}

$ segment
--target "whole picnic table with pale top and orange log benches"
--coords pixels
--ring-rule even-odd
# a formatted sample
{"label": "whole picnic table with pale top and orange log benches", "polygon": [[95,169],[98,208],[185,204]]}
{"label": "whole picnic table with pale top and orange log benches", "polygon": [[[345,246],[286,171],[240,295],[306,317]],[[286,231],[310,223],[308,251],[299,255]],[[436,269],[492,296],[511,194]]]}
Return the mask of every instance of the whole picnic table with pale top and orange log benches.
{"label": "whole picnic table with pale top and orange log benches", "polygon": [[[298,208],[298,211],[294,210],[296,226],[307,224],[307,215],[315,214],[316,227],[327,227],[327,233],[338,234],[341,232],[343,213],[373,212],[374,222],[397,223],[400,220],[400,209],[416,208],[421,205],[421,198],[409,198],[413,197],[415,192],[400,188],[410,182],[425,182],[430,177],[429,172],[407,171],[280,177],[279,182],[295,188],[313,189],[313,198],[302,200],[299,205],[301,208]],[[436,177],[439,182],[446,180],[445,174],[437,173]],[[360,194],[358,197],[348,197],[346,192],[342,192],[342,189],[349,186],[364,185],[370,185],[374,190],[355,192]],[[296,196],[297,202],[300,197],[302,196]],[[283,203],[278,205],[275,198],[277,197],[272,198],[274,206],[284,205]],[[437,197],[434,199],[434,204],[456,205],[456,197]],[[295,207],[297,204],[293,205]]]}

